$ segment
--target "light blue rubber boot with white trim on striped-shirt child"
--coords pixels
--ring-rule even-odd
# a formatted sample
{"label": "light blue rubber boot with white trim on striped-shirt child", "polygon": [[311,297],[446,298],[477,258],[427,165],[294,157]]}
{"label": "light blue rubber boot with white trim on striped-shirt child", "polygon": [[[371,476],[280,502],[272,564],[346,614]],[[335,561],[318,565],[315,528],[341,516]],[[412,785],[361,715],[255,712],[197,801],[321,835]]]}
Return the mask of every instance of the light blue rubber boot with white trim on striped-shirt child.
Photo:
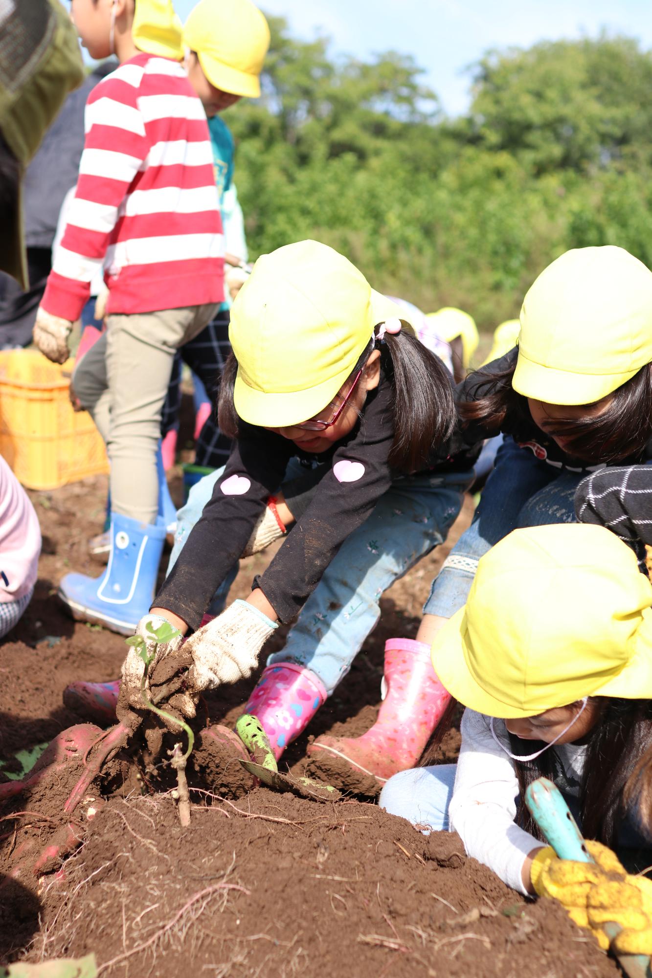
{"label": "light blue rubber boot with white trim on striped-shirt child", "polygon": [[164,526],[112,513],[111,553],[104,574],[67,574],[59,585],[59,598],[77,621],[133,635],[150,610],[164,542]]}

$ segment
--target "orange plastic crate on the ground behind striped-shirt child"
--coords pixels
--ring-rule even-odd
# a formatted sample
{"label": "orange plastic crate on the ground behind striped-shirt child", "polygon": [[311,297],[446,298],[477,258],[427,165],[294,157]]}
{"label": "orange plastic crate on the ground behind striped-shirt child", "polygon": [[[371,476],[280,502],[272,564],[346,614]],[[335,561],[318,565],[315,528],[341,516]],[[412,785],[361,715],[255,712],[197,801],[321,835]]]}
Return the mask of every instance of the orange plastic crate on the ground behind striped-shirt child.
{"label": "orange plastic crate on the ground behind striped-shirt child", "polygon": [[38,350],[0,351],[0,455],[29,489],[109,471],[93,419],[70,405],[73,366],[52,364]]}

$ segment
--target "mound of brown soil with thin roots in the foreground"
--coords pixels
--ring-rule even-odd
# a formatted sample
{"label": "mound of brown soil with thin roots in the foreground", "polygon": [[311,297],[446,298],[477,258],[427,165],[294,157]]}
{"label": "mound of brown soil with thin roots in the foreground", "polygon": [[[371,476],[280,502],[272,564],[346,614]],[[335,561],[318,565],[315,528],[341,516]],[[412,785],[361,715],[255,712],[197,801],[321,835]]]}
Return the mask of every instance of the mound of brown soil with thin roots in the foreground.
{"label": "mound of brown soil with thin roots in the foreground", "polygon": [[161,795],[113,799],[26,915],[34,901],[27,957],[94,951],[107,976],[616,973],[561,907],[518,897],[457,836],[264,788],[193,808],[185,831]]}

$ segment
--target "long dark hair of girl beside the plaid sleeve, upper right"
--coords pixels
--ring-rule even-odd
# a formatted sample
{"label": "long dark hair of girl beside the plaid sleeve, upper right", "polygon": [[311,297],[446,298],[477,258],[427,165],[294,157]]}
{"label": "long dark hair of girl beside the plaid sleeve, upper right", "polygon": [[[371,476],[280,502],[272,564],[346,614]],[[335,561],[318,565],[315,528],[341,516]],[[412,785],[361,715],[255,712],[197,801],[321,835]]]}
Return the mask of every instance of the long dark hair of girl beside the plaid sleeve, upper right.
{"label": "long dark hair of girl beside the plaid sleeve, upper right", "polygon": [[[473,375],[478,397],[458,404],[462,424],[480,422],[517,439],[527,437],[533,420],[528,399],[512,386],[515,370],[516,356],[503,371],[489,374],[480,370]],[[580,420],[555,419],[545,433],[568,439],[564,452],[586,462],[613,463],[642,455],[652,437],[652,364],[617,387],[601,414]]]}

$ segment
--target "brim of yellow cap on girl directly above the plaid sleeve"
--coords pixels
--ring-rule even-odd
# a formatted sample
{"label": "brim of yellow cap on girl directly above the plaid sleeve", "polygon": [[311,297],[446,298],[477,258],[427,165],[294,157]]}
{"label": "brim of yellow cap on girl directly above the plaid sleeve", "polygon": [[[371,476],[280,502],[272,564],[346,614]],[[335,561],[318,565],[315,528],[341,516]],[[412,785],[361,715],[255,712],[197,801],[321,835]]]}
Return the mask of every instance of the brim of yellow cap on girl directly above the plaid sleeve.
{"label": "brim of yellow cap on girl directly above the plaid sleeve", "polygon": [[636,373],[637,370],[627,374],[594,375],[555,370],[529,360],[519,348],[512,387],[518,394],[545,404],[593,404],[613,394]]}

